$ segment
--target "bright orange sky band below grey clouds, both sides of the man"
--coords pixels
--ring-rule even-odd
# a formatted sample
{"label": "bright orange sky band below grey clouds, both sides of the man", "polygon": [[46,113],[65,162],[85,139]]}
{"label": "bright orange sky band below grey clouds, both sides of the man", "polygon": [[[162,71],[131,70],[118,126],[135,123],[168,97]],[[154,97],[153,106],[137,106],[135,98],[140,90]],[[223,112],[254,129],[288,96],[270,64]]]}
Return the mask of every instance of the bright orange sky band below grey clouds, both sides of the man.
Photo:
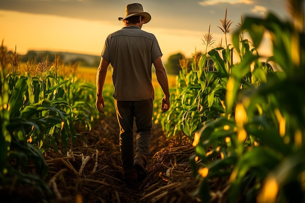
{"label": "bright orange sky band below grey clouds, both sides of the man", "polygon": [[[1,29],[0,37],[10,50],[17,46],[19,54],[26,54],[28,50],[50,50],[100,55],[107,35],[123,27],[119,21],[110,24],[15,11],[0,10],[0,13],[0,27],[5,28]],[[203,49],[200,32],[152,29],[149,24],[142,29],[157,37],[164,58],[178,52],[191,55],[195,48]]]}

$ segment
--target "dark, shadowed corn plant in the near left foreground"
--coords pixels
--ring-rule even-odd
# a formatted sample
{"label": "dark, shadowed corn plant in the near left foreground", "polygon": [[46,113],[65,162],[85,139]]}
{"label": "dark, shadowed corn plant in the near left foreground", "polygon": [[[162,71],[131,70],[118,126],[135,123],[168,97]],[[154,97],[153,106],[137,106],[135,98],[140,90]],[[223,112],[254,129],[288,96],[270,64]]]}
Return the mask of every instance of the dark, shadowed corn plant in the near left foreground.
{"label": "dark, shadowed corn plant in the near left foreground", "polygon": [[[9,83],[11,78],[17,79],[15,75],[6,77],[5,66],[1,67],[0,183],[1,185],[9,185],[15,180],[20,184],[32,185],[42,196],[49,196],[51,191],[42,179],[35,175],[25,174],[29,162],[35,164],[37,173],[41,177],[45,177],[48,171],[48,166],[41,151],[30,144],[30,138],[27,134],[33,128],[38,129],[38,125],[31,120],[25,120],[20,113],[20,110],[24,110],[26,106],[25,94],[28,89],[26,84],[28,78],[21,76],[14,85]],[[37,107],[38,109],[41,108],[41,106]],[[39,111],[38,109],[36,109],[36,112]],[[56,111],[52,108],[44,110]],[[26,110],[23,112],[26,112]]]}

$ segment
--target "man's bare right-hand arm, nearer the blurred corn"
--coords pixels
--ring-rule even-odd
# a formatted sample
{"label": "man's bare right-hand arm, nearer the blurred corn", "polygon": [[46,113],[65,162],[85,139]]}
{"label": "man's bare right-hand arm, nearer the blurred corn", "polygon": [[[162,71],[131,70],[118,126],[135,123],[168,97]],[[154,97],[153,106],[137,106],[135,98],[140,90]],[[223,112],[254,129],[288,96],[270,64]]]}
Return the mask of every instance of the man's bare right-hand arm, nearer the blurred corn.
{"label": "man's bare right-hand arm, nearer the blurred corn", "polygon": [[157,59],[153,61],[153,65],[156,70],[156,76],[157,80],[163,90],[163,93],[165,94],[162,99],[162,113],[165,111],[168,111],[170,109],[170,90],[169,90],[169,81],[167,78],[167,74],[165,71],[165,68],[161,61],[161,56],[159,56]]}

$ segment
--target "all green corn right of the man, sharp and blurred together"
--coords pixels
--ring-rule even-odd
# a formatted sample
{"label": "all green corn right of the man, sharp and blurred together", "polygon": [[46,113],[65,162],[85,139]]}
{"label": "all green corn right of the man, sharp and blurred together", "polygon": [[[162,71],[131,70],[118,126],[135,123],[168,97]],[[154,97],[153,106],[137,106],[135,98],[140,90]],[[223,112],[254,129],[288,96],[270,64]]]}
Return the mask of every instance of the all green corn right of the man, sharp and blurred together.
{"label": "all green corn right of the man, sharp and blurred together", "polygon": [[[261,62],[256,47],[266,32],[273,55]],[[232,39],[232,48],[194,56],[191,72],[180,73],[163,129],[190,138],[202,200],[227,194],[222,201],[230,203],[304,202],[304,28],[270,13],[246,18]],[[209,186],[216,177],[227,180],[219,193]]]}

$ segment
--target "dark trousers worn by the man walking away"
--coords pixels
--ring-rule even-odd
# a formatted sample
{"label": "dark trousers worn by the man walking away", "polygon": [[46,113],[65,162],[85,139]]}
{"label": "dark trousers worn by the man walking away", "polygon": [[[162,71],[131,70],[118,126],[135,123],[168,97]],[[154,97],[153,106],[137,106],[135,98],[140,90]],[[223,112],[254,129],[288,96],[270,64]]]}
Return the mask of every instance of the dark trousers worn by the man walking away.
{"label": "dark trousers worn by the man walking away", "polygon": [[[133,168],[133,160],[142,159],[145,164],[150,154],[152,129],[152,100],[117,101],[114,99],[116,117],[120,127],[120,150],[124,170]],[[133,147],[133,122],[136,125],[136,149]]]}

